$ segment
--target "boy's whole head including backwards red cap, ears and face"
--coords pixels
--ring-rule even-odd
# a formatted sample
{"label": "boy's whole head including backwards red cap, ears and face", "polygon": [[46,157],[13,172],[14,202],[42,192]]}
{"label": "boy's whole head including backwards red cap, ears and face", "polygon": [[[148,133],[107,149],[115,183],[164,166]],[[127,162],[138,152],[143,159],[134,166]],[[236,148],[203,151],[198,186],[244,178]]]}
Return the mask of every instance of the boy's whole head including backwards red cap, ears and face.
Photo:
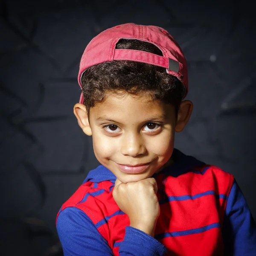
{"label": "boy's whole head including backwards red cap, ears and face", "polygon": [[124,183],[151,177],[167,163],[175,131],[192,112],[192,102],[182,102],[186,60],[168,32],[131,23],[105,30],[85,49],[78,79],[74,113],[93,136],[100,163]]}

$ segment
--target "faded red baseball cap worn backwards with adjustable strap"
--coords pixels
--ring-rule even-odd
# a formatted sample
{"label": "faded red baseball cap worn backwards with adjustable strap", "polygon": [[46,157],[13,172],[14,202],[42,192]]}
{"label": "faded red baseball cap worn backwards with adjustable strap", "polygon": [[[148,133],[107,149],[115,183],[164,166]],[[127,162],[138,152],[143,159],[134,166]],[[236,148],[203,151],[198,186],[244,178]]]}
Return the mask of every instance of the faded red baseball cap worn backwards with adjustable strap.
{"label": "faded red baseball cap worn backwards with adjustable strap", "polygon": [[[163,56],[139,50],[116,49],[120,39],[137,39],[154,44],[162,51]],[[78,74],[80,87],[84,70],[96,64],[114,60],[139,61],[165,67],[168,74],[176,76],[183,83],[186,89],[183,99],[188,93],[186,59],[180,46],[165,29],[158,26],[126,23],[101,32],[90,41],[82,55]],[[83,101],[83,94],[81,94],[79,102],[82,104]]]}

